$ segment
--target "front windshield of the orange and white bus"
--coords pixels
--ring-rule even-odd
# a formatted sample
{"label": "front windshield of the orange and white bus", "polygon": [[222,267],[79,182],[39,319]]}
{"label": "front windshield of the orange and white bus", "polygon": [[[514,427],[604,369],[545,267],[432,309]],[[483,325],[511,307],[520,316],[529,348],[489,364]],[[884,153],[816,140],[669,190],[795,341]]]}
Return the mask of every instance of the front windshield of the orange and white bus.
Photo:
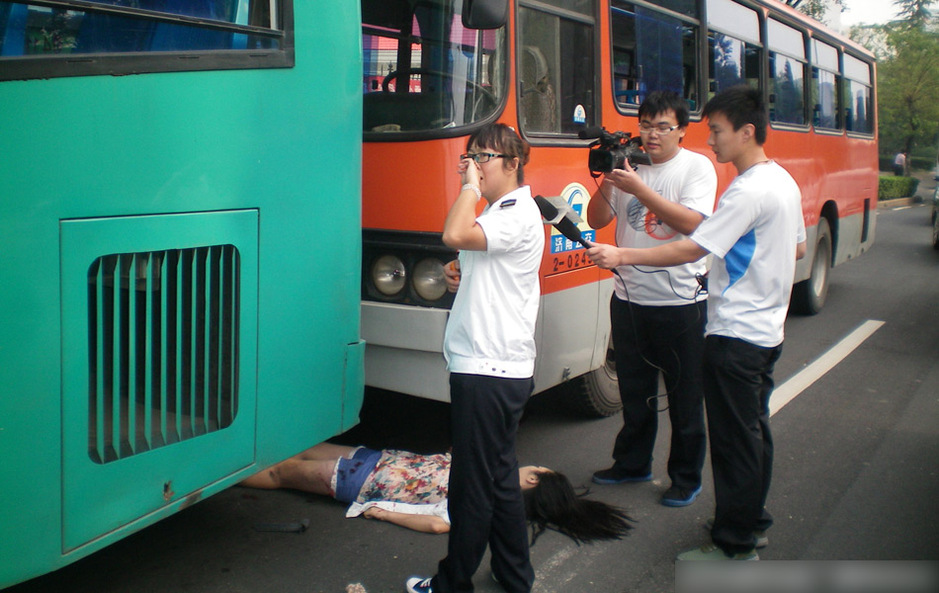
{"label": "front windshield of the orange and white bus", "polygon": [[376,139],[487,119],[505,95],[505,27],[463,26],[462,0],[362,2],[366,133]]}

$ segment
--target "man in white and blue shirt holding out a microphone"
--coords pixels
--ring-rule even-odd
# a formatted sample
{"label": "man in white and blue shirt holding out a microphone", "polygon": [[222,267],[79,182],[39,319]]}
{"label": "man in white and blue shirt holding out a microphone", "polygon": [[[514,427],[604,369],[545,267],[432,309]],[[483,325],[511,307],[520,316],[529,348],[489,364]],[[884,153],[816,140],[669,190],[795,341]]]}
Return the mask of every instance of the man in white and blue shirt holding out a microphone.
{"label": "man in white and blue shirt holding out a microphone", "polygon": [[796,259],[805,254],[802,196],[763,150],[768,117],[762,91],[728,89],[704,107],[708,145],[737,177],[714,214],[690,238],[653,249],[595,245],[597,265],[672,266],[715,256],[709,277],[704,398],[716,511],[712,544],[679,560],[756,560],[757,532],[773,464],[769,398],[782,350]]}

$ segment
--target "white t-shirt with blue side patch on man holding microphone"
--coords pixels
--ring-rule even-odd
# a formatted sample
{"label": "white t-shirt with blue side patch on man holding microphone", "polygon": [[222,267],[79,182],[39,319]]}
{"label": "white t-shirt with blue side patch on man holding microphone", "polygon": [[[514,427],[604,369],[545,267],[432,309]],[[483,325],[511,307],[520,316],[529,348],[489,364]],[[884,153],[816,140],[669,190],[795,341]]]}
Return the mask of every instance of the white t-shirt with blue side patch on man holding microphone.
{"label": "white t-shirt with blue side patch on man holding microphone", "polygon": [[796,245],[805,241],[802,192],[789,172],[769,161],[738,175],[691,240],[716,256],[705,333],[781,344]]}

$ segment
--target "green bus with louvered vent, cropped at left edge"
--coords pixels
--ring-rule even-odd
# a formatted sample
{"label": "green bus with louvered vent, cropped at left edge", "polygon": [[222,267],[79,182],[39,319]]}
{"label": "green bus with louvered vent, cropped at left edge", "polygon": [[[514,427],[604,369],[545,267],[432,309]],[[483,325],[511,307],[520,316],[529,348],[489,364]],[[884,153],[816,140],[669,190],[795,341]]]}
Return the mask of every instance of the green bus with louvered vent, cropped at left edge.
{"label": "green bus with louvered vent, cropped at left edge", "polygon": [[359,32],[0,1],[0,588],[358,422]]}

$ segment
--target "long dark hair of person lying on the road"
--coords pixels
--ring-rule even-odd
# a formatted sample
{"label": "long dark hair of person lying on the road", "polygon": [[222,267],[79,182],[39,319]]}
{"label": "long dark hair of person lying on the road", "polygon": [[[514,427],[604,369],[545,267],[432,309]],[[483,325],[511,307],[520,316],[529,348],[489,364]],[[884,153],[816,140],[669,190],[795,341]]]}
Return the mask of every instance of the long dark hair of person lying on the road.
{"label": "long dark hair of person lying on the road", "polygon": [[559,531],[578,544],[620,539],[632,529],[633,519],[618,507],[584,498],[564,474],[538,473],[538,485],[522,491],[525,516],[531,522],[531,543],[546,529]]}

